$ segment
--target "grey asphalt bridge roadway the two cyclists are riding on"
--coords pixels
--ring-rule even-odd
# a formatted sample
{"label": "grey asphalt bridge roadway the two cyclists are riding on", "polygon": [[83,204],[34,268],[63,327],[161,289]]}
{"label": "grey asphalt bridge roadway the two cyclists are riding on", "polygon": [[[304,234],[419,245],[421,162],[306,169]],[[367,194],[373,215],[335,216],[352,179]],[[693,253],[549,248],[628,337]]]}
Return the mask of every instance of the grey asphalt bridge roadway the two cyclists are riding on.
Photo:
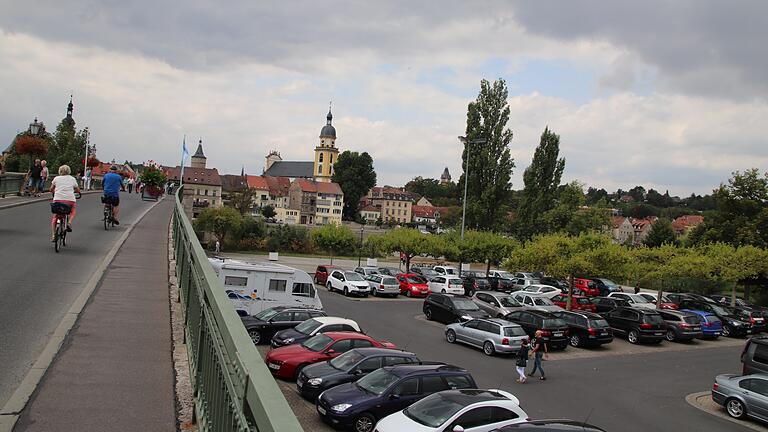
{"label": "grey asphalt bridge roadway the two cyclists are riding on", "polygon": [[11,396],[94,269],[152,203],[121,194],[120,226],[104,230],[99,194],[78,201],[55,253],[48,202],[0,210],[0,406]]}

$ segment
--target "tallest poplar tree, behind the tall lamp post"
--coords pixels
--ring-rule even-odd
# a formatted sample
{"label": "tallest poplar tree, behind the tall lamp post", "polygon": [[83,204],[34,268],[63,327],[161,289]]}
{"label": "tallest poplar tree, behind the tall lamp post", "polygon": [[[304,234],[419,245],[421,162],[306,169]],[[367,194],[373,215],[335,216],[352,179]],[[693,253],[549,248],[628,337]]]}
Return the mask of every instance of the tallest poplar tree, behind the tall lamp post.
{"label": "tallest poplar tree, behind the tall lamp post", "polygon": [[[467,224],[480,230],[492,230],[504,220],[512,187],[510,179],[515,163],[509,153],[512,131],[507,128],[509,104],[503,79],[493,84],[480,82],[480,93],[467,109],[466,142],[462,154],[467,182]],[[478,142],[485,140],[485,142]],[[467,158],[469,164],[467,168]]]}

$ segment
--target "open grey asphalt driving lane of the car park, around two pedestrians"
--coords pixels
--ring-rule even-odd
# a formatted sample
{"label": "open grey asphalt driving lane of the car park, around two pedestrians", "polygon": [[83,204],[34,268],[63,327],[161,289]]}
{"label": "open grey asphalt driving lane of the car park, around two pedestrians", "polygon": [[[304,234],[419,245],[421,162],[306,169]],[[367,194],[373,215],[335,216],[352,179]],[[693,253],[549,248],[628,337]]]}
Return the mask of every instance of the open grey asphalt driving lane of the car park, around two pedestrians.
{"label": "open grey asphalt driving lane of the car park, around two pedestrians", "polygon": [[548,380],[515,383],[514,361],[445,341],[443,326],[424,321],[420,301],[353,300],[318,287],[329,315],[352,318],[369,335],[394,342],[423,360],[467,368],[482,387],[515,394],[532,418],[588,420],[611,432],[748,431],[685,402],[711,388],[714,376],[740,371],[743,343],[721,340],[679,346],[631,346],[615,340],[598,355],[569,347],[544,363]]}

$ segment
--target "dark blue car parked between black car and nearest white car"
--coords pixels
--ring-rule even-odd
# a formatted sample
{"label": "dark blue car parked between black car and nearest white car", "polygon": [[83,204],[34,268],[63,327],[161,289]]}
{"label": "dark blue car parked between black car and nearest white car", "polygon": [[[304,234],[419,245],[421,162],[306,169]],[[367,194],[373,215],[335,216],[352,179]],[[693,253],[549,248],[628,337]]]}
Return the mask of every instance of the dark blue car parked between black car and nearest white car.
{"label": "dark blue car parked between black car and nearest white car", "polygon": [[477,388],[472,375],[456,366],[388,366],[324,391],[316,407],[323,421],[334,427],[372,432],[379,419],[432,393],[471,388]]}

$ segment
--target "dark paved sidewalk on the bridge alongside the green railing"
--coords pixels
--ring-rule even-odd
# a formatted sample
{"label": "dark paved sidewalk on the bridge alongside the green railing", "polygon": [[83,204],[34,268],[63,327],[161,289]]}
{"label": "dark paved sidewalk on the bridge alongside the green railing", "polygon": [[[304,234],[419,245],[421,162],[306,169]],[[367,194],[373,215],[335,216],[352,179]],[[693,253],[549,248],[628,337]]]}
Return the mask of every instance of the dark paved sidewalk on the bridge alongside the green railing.
{"label": "dark paved sidewalk on the bridge alongside the green railing", "polygon": [[176,430],[165,241],[172,205],[160,202],[128,236],[14,431]]}

